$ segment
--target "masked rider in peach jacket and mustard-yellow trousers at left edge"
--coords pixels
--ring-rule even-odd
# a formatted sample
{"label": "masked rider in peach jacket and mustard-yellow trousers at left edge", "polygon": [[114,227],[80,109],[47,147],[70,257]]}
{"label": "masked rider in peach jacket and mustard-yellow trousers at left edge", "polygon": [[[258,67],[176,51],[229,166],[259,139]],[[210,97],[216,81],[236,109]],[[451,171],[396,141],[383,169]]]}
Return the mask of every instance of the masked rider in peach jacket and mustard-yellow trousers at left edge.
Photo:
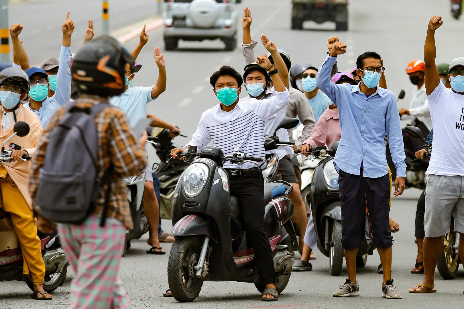
{"label": "masked rider in peach jacket and mustard-yellow trousers at left edge", "polygon": [[[24,257],[23,274],[34,284],[32,297],[47,300],[52,299],[52,295],[44,290],[45,264],[29,194],[31,162],[21,160],[24,155],[33,157],[35,147],[44,132],[39,118],[19,102],[24,100],[28,93],[29,78],[22,69],[6,68],[0,72],[1,143],[13,134],[16,122],[25,121],[30,127],[28,135],[10,139],[10,142],[19,148],[11,154],[13,162],[0,164],[1,208],[11,214]],[[9,147],[6,145],[6,148]]]}

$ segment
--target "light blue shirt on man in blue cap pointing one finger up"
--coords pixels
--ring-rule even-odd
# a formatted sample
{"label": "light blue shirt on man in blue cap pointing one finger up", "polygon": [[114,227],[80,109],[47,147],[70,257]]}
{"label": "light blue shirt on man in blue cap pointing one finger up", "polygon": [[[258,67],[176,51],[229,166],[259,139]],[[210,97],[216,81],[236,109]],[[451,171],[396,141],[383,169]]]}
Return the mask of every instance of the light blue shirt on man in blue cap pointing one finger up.
{"label": "light blue shirt on man in blue cap pointing one finger up", "polygon": [[36,114],[42,127],[48,125],[48,122],[52,118],[53,114],[57,109],[68,103],[71,100],[71,71],[69,70],[71,64],[71,47],[61,45],[61,52],[59,57],[59,66],[57,73],[57,88],[55,94],[52,97],[47,97],[43,102],[39,110],[32,109],[30,103],[25,104],[27,108],[32,110]]}

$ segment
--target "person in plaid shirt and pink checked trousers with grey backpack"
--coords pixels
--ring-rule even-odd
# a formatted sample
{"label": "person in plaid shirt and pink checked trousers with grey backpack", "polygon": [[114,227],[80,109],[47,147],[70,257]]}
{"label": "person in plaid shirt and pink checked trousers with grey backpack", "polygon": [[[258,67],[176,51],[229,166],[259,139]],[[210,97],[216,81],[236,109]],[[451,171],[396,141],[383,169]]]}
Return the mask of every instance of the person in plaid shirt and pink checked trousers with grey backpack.
{"label": "person in plaid shirt and pink checked trousers with grey backpack", "polygon": [[75,273],[70,308],[131,306],[117,275],[126,229],[133,227],[122,177],[145,168],[147,134],[137,140],[108,99],[122,93],[126,66],[133,69],[133,58],[111,37],[77,52],[71,73],[79,99],[53,115],[33,160],[30,192],[39,223],[58,223]]}

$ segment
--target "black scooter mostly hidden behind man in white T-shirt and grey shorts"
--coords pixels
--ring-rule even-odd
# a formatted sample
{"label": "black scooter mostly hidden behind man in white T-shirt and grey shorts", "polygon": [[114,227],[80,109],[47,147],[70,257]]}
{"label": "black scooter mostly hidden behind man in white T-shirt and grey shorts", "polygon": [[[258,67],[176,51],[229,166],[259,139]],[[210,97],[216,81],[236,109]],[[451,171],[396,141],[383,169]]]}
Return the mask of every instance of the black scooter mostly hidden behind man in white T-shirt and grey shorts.
{"label": "black scooter mostly hidden behind man in white T-shirt and grey shorts", "polygon": [[[415,139],[420,139],[425,142],[427,153],[424,158],[430,158],[432,154],[432,145],[427,143],[424,133],[416,126],[406,126],[406,131]],[[421,159],[416,159],[423,161]],[[459,264],[462,264],[458,254],[459,234],[454,232],[454,220],[451,218],[450,233],[447,233],[441,238],[443,250],[437,262],[437,269],[443,279],[454,279],[458,274]]]}

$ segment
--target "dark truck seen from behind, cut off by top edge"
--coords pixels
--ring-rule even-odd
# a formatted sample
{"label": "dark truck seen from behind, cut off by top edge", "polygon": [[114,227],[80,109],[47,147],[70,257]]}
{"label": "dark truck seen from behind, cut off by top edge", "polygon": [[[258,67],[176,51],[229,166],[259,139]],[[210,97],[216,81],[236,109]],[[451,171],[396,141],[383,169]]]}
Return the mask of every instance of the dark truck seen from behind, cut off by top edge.
{"label": "dark truck seen from behind, cut off by top edge", "polygon": [[303,22],[334,21],[335,30],[348,30],[348,0],[292,0],[291,28],[303,29]]}

